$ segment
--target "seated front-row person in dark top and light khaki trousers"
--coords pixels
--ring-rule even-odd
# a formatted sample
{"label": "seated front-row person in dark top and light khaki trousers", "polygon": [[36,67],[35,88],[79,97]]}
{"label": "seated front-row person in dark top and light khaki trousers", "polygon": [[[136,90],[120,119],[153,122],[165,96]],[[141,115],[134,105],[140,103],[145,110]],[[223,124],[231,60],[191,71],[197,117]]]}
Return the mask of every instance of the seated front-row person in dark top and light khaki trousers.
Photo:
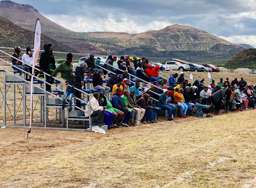
{"label": "seated front-row person in dark top and light khaki trousers", "polygon": [[139,105],[137,105],[137,103],[136,103],[137,100],[136,100],[136,97],[134,96],[134,94],[135,94],[134,90],[130,91],[129,96],[127,98],[128,98],[128,101],[129,101],[130,105],[132,105],[132,107],[137,112],[136,119],[135,119],[135,125],[140,125],[141,120],[142,120],[146,111],[145,111],[144,108],[141,108]]}

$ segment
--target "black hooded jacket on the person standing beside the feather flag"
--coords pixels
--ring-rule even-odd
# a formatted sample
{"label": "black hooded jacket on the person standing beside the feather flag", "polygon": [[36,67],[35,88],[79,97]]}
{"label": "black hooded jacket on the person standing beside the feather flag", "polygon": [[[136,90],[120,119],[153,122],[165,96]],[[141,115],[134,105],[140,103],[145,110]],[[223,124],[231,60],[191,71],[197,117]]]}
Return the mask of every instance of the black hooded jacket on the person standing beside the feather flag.
{"label": "black hooded jacket on the person standing beside the feather flag", "polygon": [[[53,56],[52,52],[48,51],[48,47],[50,45],[52,46],[51,43],[47,44],[44,52],[41,53],[40,59],[39,59],[40,69],[43,69],[44,72],[48,71],[49,64],[52,65],[53,70],[55,70],[55,68],[56,68],[54,56]],[[53,51],[53,47],[52,47],[52,51]],[[71,79],[71,77],[70,77],[70,79]]]}

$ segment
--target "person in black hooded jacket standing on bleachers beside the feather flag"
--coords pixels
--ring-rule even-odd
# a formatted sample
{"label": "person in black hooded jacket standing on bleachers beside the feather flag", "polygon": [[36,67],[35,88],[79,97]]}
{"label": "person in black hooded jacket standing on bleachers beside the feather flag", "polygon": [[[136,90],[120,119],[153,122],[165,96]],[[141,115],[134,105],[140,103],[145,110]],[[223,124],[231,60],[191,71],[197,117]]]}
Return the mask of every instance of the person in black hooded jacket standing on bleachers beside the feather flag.
{"label": "person in black hooded jacket standing on bleachers beside the feather flag", "polygon": [[[56,68],[55,59],[52,54],[52,51],[53,51],[53,46],[51,43],[48,43],[45,46],[44,52],[41,53],[40,60],[39,60],[39,66],[41,68],[41,72],[44,71],[45,73],[52,74],[52,72],[55,70],[55,68]],[[71,79],[71,77],[68,77],[68,78],[69,78],[68,80]],[[54,78],[46,75],[46,82],[52,84],[53,81],[54,81]],[[52,92],[50,87],[51,86],[46,83],[46,91]],[[64,88],[63,89],[66,90],[67,87],[65,86]]]}

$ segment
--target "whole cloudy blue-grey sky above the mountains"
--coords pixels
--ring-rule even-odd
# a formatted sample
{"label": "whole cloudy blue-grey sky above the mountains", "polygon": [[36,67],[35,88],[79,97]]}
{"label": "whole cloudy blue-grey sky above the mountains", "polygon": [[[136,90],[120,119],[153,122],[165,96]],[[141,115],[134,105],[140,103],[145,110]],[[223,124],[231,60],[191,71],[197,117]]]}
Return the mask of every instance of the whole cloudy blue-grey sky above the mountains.
{"label": "whole cloudy blue-grey sky above the mountains", "polygon": [[256,0],[14,0],[74,31],[139,33],[189,25],[256,47]]}

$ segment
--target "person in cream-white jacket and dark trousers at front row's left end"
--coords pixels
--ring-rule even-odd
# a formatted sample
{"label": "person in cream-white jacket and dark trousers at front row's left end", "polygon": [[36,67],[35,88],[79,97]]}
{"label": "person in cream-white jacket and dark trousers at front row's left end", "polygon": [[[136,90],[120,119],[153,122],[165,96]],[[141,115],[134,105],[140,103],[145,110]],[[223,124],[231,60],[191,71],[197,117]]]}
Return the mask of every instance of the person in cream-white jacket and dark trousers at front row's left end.
{"label": "person in cream-white jacket and dark trousers at front row's left end", "polygon": [[89,108],[90,108],[90,117],[97,117],[96,122],[98,126],[104,125],[104,110],[106,106],[100,106],[98,104],[99,93],[94,92],[93,97],[90,99],[90,105],[87,104],[85,106],[85,117],[89,116]]}

